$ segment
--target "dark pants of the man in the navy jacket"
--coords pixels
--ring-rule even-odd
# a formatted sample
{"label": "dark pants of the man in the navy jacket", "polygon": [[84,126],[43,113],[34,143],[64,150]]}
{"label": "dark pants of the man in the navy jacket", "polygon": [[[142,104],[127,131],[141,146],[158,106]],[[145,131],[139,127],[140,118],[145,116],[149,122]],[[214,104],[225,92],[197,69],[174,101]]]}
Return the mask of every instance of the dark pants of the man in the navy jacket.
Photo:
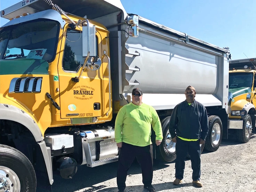
{"label": "dark pants of the man in the navy jacket", "polygon": [[201,149],[198,141],[184,141],[177,137],[176,143],[176,161],[175,161],[175,177],[183,179],[185,169],[185,159],[189,152],[191,159],[191,167],[193,170],[193,181],[200,181],[201,176]]}

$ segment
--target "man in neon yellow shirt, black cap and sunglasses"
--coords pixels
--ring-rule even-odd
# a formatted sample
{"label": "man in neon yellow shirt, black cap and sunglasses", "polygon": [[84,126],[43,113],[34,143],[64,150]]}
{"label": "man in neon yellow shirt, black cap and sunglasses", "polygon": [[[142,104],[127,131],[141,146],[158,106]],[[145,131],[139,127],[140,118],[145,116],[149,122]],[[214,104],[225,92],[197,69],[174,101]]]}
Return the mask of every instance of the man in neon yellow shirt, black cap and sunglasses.
{"label": "man in neon yellow shirt, black cap and sunglasses", "polygon": [[123,106],[115,120],[115,141],[120,147],[117,186],[119,192],[125,190],[127,171],[135,157],[142,169],[144,188],[155,192],[153,179],[153,150],[151,125],[156,135],[156,145],[160,145],[163,135],[161,122],[155,109],[142,103],[142,90],[133,89],[133,101]]}

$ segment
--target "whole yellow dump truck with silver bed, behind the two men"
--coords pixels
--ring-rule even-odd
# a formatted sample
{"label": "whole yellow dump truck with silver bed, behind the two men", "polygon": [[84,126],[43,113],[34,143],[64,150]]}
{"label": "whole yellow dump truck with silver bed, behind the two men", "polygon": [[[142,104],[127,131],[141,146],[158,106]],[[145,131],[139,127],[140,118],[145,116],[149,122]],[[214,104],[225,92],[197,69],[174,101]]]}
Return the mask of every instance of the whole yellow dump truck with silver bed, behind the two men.
{"label": "whole yellow dump truck with silver bed, behind the two men", "polygon": [[[120,1],[26,0],[1,17],[10,19],[0,41],[0,177],[6,190],[35,191],[35,172],[53,184],[55,170],[67,179],[78,165],[117,161],[114,121],[134,87],[161,119],[164,139],[154,145],[154,158],[176,159],[168,124],[188,85],[209,115],[205,148],[216,151],[227,138],[228,49],[127,14]],[[3,161],[10,153],[11,161]]]}

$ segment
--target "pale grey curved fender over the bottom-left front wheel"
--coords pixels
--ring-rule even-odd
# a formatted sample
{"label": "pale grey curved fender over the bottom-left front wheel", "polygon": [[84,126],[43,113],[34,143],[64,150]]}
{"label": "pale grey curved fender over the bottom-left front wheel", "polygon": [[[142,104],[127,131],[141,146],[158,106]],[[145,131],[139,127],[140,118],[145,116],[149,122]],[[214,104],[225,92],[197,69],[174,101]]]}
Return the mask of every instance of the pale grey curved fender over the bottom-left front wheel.
{"label": "pale grey curved fender over the bottom-left front wheel", "polygon": [[53,169],[51,165],[51,150],[47,147],[45,141],[43,141],[43,135],[39,129],[39,126],[32,117],[25,111],[9,104],[0,103],[0,119],[11,120],[24,125],[30,130],[35,138],[35,141],[39,144],[43,158],[45,160],[45,165],[47,169],[47,174],[49,177],[49,182],[53,184]]}

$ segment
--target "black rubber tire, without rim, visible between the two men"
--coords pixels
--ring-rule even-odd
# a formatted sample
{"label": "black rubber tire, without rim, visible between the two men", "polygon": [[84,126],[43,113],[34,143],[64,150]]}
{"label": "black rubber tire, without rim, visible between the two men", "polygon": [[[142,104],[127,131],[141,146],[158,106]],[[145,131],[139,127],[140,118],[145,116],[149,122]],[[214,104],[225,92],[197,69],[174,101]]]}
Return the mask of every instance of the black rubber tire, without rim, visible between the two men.
{"label": "black rubber tire, without rim, visible between the two men", "polygon": [[176,159],[175,150],[173,152],[170,152],[167,149],[167,144],[166,144],[167,135],[170,137],[170,135],[168,134],[170,118],[171,117],[169,116],[161,121],[162,131],[163,131],[163,140],[162,140],[162,143],[159,145],[159,153],[158,153],[158,158],[167,162],[172,162]]}

